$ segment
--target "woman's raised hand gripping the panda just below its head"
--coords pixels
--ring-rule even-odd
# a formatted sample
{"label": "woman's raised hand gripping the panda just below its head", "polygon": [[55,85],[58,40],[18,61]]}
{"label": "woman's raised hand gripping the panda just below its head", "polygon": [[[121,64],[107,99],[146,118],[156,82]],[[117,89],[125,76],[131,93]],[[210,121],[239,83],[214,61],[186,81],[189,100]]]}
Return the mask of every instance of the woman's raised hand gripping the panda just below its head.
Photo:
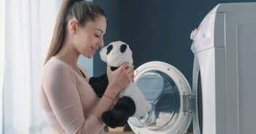
{"label": "woman's raised hand gripping the panda just below its head", "polygon": [[[107,76],[109,85],[115,86],[115,90],[118,93],[123,91],[134,80],[133,67],[129,66],[128,62],[125,62],[117,70],[112,71],[110,67],[107,67]],[[113,89],[114,90],[114,89]]]}

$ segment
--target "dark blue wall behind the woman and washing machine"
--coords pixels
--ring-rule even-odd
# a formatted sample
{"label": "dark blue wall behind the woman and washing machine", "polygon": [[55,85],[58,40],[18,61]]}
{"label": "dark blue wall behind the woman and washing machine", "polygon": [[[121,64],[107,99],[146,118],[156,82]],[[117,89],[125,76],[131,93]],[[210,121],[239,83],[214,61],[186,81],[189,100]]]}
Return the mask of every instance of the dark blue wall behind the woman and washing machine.
{"label": "dark blue wall behind the woman and washing machine", "polygon": [[[163,61],[177,67],[192,84],[193,53],[190,32],[217,4],[246,2],[227,0],[95,0],[108,19],[105,44],[122,40],[131,46],[135,68],[145,62]],[[98,56],[93,57],[95,76],[106,72]]]}

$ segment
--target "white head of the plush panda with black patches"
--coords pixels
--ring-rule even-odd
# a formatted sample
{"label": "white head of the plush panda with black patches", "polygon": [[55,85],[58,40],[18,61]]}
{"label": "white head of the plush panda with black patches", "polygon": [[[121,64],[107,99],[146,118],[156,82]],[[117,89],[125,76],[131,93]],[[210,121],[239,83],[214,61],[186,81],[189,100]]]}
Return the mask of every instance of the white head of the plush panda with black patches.
{"label": "white head of the plush panda with black patches", "polygon": [[114,41],[104,46],[100,51],[100,56],[111,67],[119,67],[124,62],[133,64],[131,49],[123,41]]}

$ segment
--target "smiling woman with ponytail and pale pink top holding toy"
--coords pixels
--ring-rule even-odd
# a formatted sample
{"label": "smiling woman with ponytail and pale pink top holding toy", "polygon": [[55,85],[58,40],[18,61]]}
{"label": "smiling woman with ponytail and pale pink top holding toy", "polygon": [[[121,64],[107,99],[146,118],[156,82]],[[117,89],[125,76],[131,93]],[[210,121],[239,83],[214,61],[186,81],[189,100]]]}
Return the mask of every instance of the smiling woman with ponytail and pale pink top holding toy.
{"label": "smiling woman with ponytail and pale pink top holding toy", "polygon": [[39,95],[55,133],[104,133],[101,114],[112,108],[118,93],[133,81],[128,63],[115,71],[107,67],[109,84],[101,99],[77,66],[80,54],[91,58],[104,46],[106,14],[88,1],[63,0],[42,72]]}

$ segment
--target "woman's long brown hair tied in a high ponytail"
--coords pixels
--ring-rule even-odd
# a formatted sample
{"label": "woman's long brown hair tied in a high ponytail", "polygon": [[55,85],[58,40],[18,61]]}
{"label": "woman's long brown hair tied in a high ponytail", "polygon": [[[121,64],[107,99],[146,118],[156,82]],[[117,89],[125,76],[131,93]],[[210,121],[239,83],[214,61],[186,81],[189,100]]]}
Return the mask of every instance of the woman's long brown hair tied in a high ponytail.
{"label": "woman's long brown hair tied in a high ponytail", "polygon": [[50,49],[47,52],[44,64],[61,50],[66,35],[66,25],[71,18],[76,19],[79,26],[83,26],[89,20],[94,21],[99,15],[106,17],[104,10],[98,5],[93,4],[93,2],[85,0],[63,0],[55,23]]}

